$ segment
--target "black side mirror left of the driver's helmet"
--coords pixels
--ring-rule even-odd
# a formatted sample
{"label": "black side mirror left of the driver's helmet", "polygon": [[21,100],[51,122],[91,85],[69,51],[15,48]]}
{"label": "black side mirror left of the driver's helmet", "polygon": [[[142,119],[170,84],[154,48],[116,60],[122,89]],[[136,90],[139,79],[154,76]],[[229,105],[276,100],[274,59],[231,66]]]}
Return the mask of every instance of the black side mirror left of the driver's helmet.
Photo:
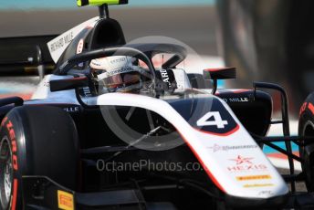
{"label": "black side mirror left of the driver's helmet", "polygon": [[58,79],[50,81],[50,91],[56,92],[68,89],[78,89],[89,86],[89,79],[87,77]]}

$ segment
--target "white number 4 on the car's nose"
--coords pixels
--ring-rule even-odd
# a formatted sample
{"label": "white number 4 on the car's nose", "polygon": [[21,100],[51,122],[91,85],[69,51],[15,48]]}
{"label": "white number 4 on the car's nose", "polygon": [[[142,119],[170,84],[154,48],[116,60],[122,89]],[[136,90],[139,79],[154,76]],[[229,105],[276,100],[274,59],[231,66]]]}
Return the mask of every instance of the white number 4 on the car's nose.
{"label": "white number 4 on the car's nose", "polygon": [[[213,121],[209,121],[213,118]],[[219,111],[210,111],[204,115],[200,120],[196,122],[197,126],[217,126],[218,129],[225,129],[225,125],[228,121],[223,121]]]}

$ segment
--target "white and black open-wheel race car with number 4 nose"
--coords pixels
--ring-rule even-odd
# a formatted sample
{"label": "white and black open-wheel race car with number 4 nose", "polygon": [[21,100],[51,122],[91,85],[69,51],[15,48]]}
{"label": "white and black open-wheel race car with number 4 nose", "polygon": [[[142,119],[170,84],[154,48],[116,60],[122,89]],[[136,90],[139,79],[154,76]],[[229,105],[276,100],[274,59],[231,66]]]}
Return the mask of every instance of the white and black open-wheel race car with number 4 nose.
{"label": "white and black open-wheel race car with number 4 nose", "polygon": [[[217,89],[235,68],[190,74],[178,68],[181,45],[126,43],[108,10],[120,4],[127,1],[78,0],[98,5],[99,17],[47,43],[56,67],[31,100],[0,100],[1,209],[313,207],[313,96],[300,112],[300,137],[290,137],[284,89]],[[168,58],[157,67],[160,54]],[[282,120],[272,120],[272,99],[258,89],[281,93]],[[275,123],[284,137],[267,137]],[[290,174],[277,172],[264,144],[288,156]],[[296,193],[297,181],[309,192]]]}

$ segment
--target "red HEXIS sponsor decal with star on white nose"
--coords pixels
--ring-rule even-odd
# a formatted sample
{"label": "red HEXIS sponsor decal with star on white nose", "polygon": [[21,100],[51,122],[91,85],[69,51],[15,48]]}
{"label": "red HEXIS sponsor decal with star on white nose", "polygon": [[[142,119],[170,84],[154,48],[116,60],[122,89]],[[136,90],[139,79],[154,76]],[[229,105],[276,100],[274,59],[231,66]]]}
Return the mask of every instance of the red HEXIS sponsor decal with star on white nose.
{"label": "red HEXIS sponsor decal with star on white nose", "polygon": [[247,173],[247,172],[263,172],[267,171],[267,165],[263,163],[254,163],[254,158],[243,157],[237,155],[235,159],[229,159],[234,162],[234,165],[227,167],[227,170],[231,173]]}

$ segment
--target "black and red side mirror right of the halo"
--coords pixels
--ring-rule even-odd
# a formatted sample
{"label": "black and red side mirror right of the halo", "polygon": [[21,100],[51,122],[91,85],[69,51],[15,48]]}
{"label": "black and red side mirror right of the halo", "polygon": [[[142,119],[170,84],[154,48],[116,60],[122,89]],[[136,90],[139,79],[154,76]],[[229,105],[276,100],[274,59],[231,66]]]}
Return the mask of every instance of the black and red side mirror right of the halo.
{"label": "black and red side mirror right of the halo", "polygon": [[236,68],[208,68],[204,69],[204,79],[236,79]]}

